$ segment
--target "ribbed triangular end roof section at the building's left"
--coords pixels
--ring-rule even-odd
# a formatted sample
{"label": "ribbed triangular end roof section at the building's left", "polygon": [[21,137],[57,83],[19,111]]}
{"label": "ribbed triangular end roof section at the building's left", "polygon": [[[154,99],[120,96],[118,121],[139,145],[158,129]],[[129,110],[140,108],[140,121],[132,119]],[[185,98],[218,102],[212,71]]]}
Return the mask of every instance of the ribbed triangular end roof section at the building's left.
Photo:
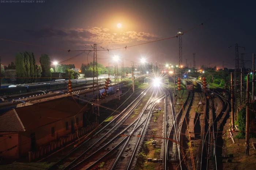
{"label": "ribbed triangular end roof section at the building's left", "polygon": [[15,109],[0,115],[0,132],[23,132],[25,128]]}

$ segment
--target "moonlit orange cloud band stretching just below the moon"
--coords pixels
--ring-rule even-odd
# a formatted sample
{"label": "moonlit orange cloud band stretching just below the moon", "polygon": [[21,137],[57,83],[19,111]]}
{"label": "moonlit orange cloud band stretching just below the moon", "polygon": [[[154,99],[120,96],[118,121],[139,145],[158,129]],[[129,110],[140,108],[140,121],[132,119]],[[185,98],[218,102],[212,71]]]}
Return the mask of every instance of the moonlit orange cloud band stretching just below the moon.
{"label": "moonlit orange cloud band stretching just below the moon", "polygon": [[159,37],[152,33],[126,31],[115,33],[109,28],[90,27],[87,29],[44,28],[37,31],[25,30],[37,38],[52,37],[59,40],[76,42],[76,44],[97,43],[101,45],[128,44],[133,41],[152,41]]}

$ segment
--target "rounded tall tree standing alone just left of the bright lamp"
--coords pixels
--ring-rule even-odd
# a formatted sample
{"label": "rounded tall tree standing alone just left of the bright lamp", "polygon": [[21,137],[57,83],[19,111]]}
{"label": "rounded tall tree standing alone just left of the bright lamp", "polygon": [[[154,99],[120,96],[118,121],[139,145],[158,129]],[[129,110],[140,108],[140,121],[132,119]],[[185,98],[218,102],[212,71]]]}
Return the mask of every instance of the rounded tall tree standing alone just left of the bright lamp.
{"label": "rounded tall tree standing alone just left of the bright lamp", "polygon": [[48,77],[46,80],[50,80],[52,77],[52,73],[50,72],[50,58],[47,54],[42,54],[40,57],[40,64],[42,67],[42,76],[41,77]]}

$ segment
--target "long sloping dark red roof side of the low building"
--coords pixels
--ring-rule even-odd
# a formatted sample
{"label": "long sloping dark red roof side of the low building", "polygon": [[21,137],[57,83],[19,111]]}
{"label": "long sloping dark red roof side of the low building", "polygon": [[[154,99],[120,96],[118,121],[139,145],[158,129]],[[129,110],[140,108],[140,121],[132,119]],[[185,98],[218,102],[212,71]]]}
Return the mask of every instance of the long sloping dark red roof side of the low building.
{"label": "long sloping dark red roof side of the low building", "polygon": [[[18,115],[16,116],[16,119],[20,119],[20,122],[18,123],[16,121],[10,126],[18,126],[15,124],[20,124],[21,126],[22,124],[28,131],[49,123],[63,120],[64,118],[75,116],[79,112],[84,112],[89,109],[85,107],[85,105],[76,103],[72,96],[68,96],[65,98],[49,100],[47,102],[39,102],[30,106],[15,108],[13,110],[16,111],[16,114]],[[1,115],[5,118],[2,120],[0,117],[3,121],[1,124],[7,124],[14,118],[14,116],[9,118],[8,114],[9,111]],[[11,127],[9,129],[11,129]],[[0,131],[3,130],[0,128]]]}

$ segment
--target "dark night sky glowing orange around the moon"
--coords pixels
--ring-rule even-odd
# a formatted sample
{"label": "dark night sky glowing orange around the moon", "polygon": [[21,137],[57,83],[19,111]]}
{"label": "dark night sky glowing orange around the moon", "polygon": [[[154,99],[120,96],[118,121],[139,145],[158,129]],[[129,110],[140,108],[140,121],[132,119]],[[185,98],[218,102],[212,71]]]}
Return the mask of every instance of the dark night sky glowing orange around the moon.
{"label": "dark night sky glowing orange around the moon", "polygon": [[[45,0],[43,3],[15,3],[0,1],[0,39],[21,41],[64,50],[83,50],[85,44],[97,43],[105,49],[131,46],[157,39],[172,37],[177,29],[187,31],[209,19],[182,37],[183,65],[185,59],[193,67],[200,64],[234,68],[235,43],[239,53],[247,53],[251,60],[256,53],[256,14],[253,1],[157,1],[157,0]],[[221,10],[221,11],[220,11]],[[122,27],[117,28],[121,23]],[[39,57],[47,53],[59,62],[68,59],[65,51],[29,46],[0,40],[2,64],[15,62],[17,51],[31,51]],[[92,50],[90,45],[86,50]],[[98,49],[101,49],[98,47]],[[70,57],[80,52],[70,52]],[[93,55],[93,53],[90,53]],[[178,64],[177,38],[150,44],[109,51],[109,54],[139,62]],[[108,65],[108,52],[98,52],[98,63]],[[92,58],[89,56],[89,62]],[[110,62],[112,62],[110,60]],[[80,68],[87,63],[87,55],[70,61]],[[251,62],[247,62],[249,66]],[[65,64],[68,64],[65,63]],[[130,62],[125,66],[130,66]],[[162,64],[161,64],[162,65]],[[189,64],[190,66],[190,64]]]}

